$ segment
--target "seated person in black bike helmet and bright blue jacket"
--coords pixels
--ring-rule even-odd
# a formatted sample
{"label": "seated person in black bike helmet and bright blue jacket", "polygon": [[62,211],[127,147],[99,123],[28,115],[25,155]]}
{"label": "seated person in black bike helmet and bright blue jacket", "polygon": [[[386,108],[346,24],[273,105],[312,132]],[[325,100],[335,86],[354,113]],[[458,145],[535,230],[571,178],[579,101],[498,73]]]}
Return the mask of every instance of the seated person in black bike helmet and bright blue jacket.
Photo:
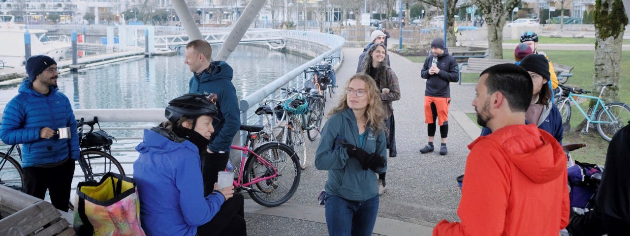
{"label": "seated person in black bike helmet and bright blue jacket", "polygon": [[134,179],[147,235],[246,235],[243,196],[234,186],[215,183],[203,194],[199,153],[210,143],[217,114],[213,99],[184,94],[166,106],[168,121],[144,130]]}

